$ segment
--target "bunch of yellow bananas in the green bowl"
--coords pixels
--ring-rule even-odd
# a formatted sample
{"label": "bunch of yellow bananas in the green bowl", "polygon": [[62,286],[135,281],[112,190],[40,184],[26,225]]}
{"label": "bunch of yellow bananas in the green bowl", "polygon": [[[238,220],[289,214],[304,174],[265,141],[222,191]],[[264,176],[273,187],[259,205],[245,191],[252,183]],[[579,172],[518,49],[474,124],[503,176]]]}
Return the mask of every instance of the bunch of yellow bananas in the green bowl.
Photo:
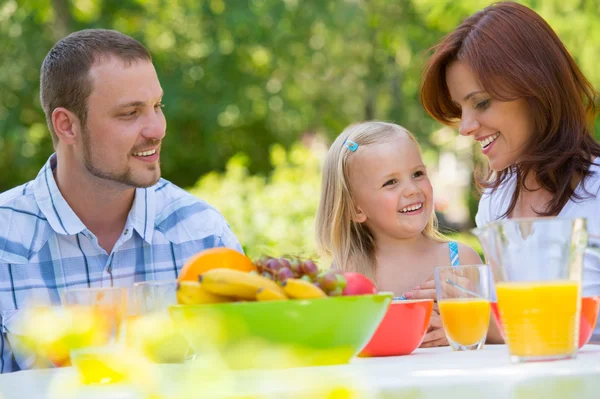
{"label": "bunch of yellow bananas in the green bowl", "polygon": [[199,281],[181,281],[177,288],[177,301],[182,305],[326,296],[321,288],[303,279],[288,278],[279,285],[257,273],[224,268],[204,272]]}

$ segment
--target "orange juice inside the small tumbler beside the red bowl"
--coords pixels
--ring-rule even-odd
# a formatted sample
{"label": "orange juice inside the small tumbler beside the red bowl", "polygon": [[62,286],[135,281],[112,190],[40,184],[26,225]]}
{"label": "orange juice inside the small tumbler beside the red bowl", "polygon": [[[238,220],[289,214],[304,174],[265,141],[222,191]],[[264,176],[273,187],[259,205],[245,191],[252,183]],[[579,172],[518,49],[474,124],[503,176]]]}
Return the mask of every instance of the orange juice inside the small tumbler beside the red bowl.
{"label": "orange juice inside the small tumbler beside the red bowl", "polygon": [[463,346],[485,339],[490,324],[490,302],[477,298],[444,299],[438,302],[447,337]]}

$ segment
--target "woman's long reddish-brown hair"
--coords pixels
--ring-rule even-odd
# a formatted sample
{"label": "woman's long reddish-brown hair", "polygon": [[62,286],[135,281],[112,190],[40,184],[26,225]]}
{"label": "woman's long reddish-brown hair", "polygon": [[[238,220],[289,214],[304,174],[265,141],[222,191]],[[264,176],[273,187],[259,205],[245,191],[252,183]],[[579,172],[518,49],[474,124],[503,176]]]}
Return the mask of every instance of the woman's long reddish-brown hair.
{"label": "woman's long reddish-brown hair", "polygon": [[575,194],[574,182],[589,175],[600,144],[592,136],[597,92],[550,25],[533,10],[512,2],[492,4],[467,18],[433,49],[423,71],[420,99],[436,120],[455,125],[461,110],[451,100],[446,69],[466,63],[490,96],[499,101],[522,98],[534,121],[525,156],[514,167],[476,177],[482,188],[497,189],[516,174],[519,193],[533,173],[553,194],[540,216],[556,216]]}

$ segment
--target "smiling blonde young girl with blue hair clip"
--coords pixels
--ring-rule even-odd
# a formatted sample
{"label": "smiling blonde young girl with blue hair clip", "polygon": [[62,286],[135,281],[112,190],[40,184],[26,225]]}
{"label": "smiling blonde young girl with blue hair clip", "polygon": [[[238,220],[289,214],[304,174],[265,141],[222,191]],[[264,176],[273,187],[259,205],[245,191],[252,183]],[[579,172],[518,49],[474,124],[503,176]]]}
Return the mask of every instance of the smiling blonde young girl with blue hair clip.
{"label": "smiling blonde young girl with blue hair clip", "polygon": [[[337,269],[370,277],[381,291],[410,299],[416,288],[435,298],[436,266],[482,263],[472,248],[438,232],[421,149],[401,126],[373,121],[346,128],[329,149],[321,189],[319,252]],[[447,345],[437,313],[431,326],[435,334],[427,334],[425,345]]]}

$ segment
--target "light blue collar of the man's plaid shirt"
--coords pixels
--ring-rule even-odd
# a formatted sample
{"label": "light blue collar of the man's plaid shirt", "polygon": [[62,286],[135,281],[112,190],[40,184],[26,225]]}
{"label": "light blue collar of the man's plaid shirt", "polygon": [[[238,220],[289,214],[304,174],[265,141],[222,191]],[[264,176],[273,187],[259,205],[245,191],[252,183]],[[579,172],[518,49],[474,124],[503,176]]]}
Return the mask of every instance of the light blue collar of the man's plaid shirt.
{"label": "light blue collar of the man's plaid shirt", "polygon": [[[52,173],[56,165],[56,153],[54,153],[34,180],[34,195],[41,212],[56,233],[75,235],[87,228],[58,189]],[[127,218],[127,226],[132,226],[149,244],[152,243],[156,216],[154,190],[155,186],[135,190],[135,199]]]}

